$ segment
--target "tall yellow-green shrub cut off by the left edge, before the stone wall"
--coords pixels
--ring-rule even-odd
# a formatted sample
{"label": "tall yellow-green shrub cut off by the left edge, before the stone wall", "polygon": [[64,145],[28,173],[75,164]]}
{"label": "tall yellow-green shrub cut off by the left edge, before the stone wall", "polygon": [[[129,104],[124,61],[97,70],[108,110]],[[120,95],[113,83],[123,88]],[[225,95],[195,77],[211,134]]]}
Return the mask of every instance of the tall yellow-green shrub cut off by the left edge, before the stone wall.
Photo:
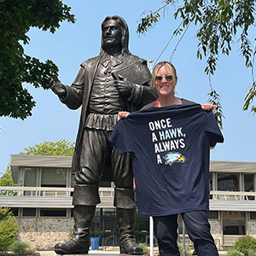
{"label": "tall yellow-green shrub cut off by the left edge, before the stone wall", "polygon": [[18,234],[18,221],[9,208],[0,207],[0,254],[6,253]]}

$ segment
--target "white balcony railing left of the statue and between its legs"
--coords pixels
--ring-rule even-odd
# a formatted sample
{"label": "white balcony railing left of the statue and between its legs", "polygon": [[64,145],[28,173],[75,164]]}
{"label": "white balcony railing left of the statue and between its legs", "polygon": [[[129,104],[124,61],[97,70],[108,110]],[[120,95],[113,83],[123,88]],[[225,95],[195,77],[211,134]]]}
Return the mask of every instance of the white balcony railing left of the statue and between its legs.
{"label": "white balcony railing left of the statue and between its legs", "polygon": [[[72,196],[73,188],[7,187],[0,186],[0,195],[6,196]],[[100,188],[100,196],[113,196],[113,188]]]}

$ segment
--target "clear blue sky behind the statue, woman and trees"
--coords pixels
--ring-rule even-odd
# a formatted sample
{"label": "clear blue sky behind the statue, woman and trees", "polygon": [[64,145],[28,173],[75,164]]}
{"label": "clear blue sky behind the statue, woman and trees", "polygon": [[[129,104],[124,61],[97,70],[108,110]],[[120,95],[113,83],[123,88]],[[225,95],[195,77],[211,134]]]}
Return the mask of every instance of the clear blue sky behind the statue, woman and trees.
{"label": "clear blue sky behind the statue, woman and trees", "polygon": [[[173,9],[170,8],[165,18],[162,17],[145,35],[136,33],[137,21],[143,11],[158,9],[160,0],[65,0],[63,3],[72,7],[76,23],[61,23],[55,34],[33,28],[28,32],[30,44],[25,47],[26,54],[40,61],[54,61],[60,68],[59,78],[63,84],[72,84],[79,72],[79,64],[99,54],[101,24],[106,16],[123,17],[130,29],[131,53],[153,61],[158,59],[179,24],[172,17]],[[196,59],[195,32],[196,28],[190,26],[172,57],[172,63],[177,68],[177,96],[206,103],[210,91],[208,77],[204,73],[206,60]],[[255,38],[255,31],[252,38]],[[178,39],[172,39],[159,61],[170,61]],[[231,54],[219,56],[217,71],[212,77],[212,86],[221,96],[225,141],[212,150],[211,160],[256,160],[256,116],[242,111],[252,76],[238,50],[235,40]],[[51,90],[35,89],[31,84],[24,86],[32,93],[37,106],[32,110],[32,117],[25,120],[0,118],[0,172],[5,172],[10,154],[19,154],[24,148],[44,141],[66,139],[73,142],[78,131],[80,109],[68,109]]]}

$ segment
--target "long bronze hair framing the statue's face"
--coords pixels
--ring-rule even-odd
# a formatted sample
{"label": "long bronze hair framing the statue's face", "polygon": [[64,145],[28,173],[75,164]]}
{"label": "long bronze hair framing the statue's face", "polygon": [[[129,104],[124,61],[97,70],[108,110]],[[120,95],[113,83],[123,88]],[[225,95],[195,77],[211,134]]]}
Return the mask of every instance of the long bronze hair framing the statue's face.
{"label": "long bronze hair framing the statue's face", "polygon": [[[122,54],[126,53],[128,55],[131,55],[131,52],[129,50],[129,29],[128,29],[128,25],[125,22],[125,20],[121,17],[119,17],[118,15],[113,15],[113,16],[107,16],[105,18],[105,20],[102,21],[102,31],[103,31],[103,26],[104,23],[108,20],[117,20],[117,22],[120,25],[121,31],[122,31],[122,38],[121,38],[121,51]],[[101,49],[101,53],[105,52],[104,49],[104,44],[103,44],[103,38],[102,38],[102,49]]]}

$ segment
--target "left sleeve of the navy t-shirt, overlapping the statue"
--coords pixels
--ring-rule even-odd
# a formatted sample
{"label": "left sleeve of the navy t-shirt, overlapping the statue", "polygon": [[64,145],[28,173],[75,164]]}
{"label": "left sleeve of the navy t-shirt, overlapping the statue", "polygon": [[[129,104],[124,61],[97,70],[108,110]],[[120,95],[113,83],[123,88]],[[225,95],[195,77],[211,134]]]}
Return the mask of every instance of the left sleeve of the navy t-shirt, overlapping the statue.
{"label": "left sleeve of the navy t-shirt, overlapping the statue", "polygon": [[128,127],[128,119],[120,119],[114,126],[109,141],[119,151],[119,154],[133,151],[133,140]]}

